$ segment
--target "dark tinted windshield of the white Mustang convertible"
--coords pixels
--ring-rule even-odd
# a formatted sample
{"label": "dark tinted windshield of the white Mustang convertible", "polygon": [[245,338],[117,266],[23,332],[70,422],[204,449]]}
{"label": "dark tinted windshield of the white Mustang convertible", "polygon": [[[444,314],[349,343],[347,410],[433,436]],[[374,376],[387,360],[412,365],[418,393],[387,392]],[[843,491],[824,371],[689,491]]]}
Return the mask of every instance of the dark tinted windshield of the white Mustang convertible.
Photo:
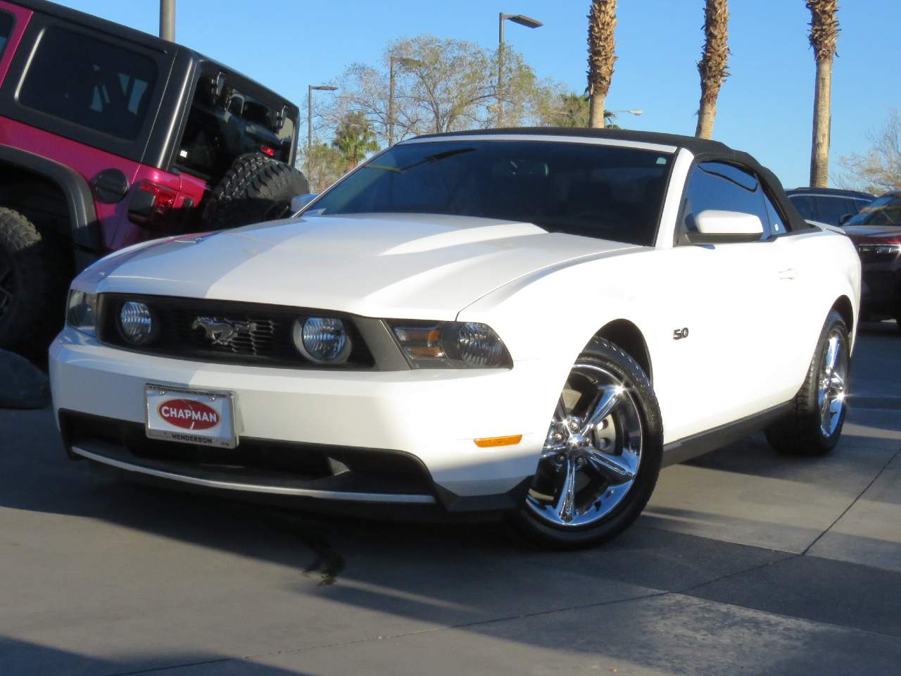
{"label": "dark tinted windshield of the white Mustang convertible", "polygon": [[479,216],[650,246],[671,159],[596,143],[403,143],[332,187],[310,214]]}

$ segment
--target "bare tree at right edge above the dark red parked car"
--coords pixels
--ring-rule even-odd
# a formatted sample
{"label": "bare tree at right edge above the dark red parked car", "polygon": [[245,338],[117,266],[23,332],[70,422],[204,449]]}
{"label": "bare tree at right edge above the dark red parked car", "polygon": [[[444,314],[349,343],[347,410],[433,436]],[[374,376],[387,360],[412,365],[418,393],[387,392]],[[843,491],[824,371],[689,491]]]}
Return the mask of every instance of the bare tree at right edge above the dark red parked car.
{"label": "bare tree at right edge above the dark red parked car", "polygon": [[901,190],[901,112],[893,108],[877,132],[867,134],[873,145],[865,153],[852,152],[839,160],[845,173],[842,187],[853,187],[878,195]]}

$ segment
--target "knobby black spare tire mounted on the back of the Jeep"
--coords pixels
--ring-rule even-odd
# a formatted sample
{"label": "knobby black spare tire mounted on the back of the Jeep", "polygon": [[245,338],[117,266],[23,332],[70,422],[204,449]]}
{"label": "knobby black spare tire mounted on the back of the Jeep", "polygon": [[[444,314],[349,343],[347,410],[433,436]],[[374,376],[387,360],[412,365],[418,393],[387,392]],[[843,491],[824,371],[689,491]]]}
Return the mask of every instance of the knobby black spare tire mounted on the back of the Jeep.
{"label": "knobby black spare tire mounted on the back of the Jeep", "polygon": [[259,152],[234,160],[204,210],[204,227],[226,230],[284,218],[291,198],[310,185],[303,173]]}

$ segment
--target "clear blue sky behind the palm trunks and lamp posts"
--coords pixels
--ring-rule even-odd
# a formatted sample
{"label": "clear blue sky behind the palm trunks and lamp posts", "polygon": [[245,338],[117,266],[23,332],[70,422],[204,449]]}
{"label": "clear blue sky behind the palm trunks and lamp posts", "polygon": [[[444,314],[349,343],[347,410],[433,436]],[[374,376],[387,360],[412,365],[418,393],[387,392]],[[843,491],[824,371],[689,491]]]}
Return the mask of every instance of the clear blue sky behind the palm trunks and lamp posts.
{"label": "clear blue sky behind the palm trunks and lamp posts", "polygon": [[[159,28],[154,0],[63,0],[146,32]],[[720,93],[714,138],[749,151],[786,187],[807,185],[814,57],[804,0],[730,3],[732,76]],[[702,0],[623,0],[607,108],[634,129],[691,134],[703,34]],[[585,89],[587,0],[177,0],[176,40],[259,79],[298,105],[306,85],[337,79],[352,61],[377,63],[388,41],[432,33],[494,48],[497,13],[528,14],[536,30],[507,23],[506,41],[541,78]],[[844,0],[833,68],[831,174],[838,158],[869,147],[867,132],[901,107],[901,2]]]}

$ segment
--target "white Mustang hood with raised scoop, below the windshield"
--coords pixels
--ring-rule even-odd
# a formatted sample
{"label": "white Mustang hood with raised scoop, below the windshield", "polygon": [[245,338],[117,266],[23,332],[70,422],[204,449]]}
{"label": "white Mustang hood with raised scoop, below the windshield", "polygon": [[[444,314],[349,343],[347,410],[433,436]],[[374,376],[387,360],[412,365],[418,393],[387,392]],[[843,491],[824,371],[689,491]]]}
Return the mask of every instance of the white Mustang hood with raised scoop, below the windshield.
{"label": "white Mustang hood with raised scoop, below the windshield", "polygon": [[168,238],[102,260],[79,282],[101,293],[450,320],[523,275],[635,248],[487,218],[315,215]]}

